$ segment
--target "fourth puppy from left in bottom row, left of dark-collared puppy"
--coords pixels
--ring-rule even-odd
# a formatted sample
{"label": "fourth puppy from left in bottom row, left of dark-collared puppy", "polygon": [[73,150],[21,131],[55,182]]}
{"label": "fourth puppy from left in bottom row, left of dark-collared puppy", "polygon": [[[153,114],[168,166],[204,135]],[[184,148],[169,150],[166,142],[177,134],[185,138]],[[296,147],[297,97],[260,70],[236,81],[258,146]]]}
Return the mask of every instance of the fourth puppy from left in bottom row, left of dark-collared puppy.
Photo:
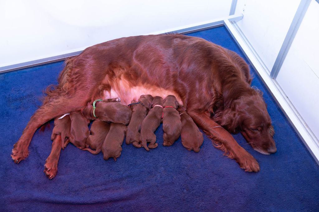
{"label": "fourth puppy from left in bottom row, left of dark-collared puppy", "polygon": [[116,158],[120,157],[126,129],[127,127],[124,124],[110,124],[108,135],[106,136],[101,146],[104,160],[114,158],[114,160],[116,161]]}

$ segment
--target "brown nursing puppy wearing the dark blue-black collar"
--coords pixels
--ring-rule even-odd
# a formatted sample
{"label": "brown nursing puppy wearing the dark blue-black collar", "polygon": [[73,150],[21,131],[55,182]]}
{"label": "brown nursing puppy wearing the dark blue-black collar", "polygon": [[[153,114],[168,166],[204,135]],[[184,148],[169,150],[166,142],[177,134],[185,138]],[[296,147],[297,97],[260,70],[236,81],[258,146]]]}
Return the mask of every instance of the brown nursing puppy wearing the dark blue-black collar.
{"label": "brown nursing puppy wearing the dark blue-black collar", "polygon": [[131,105],[132,118],[127,127],[126,144],[133,143],[133,146],[141,147],[139,141],[141,125],[147,112],[151,109],[152,101],[153,97],[151,95],[141,95],[138,99],[140,103]]}

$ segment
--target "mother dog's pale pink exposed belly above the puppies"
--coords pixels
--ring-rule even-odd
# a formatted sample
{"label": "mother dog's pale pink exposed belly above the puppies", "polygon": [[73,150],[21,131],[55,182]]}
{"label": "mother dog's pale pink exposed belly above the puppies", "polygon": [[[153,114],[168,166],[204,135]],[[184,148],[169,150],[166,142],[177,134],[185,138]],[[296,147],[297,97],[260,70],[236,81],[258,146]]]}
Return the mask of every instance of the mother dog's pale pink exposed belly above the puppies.
{"label": "mother dog's pale pink exposed belly above the puppies", "polygon": [[[117,87],[117,88],[116,88]],[[134,86],[131,88],[126,88],[125,86],[114,86],[111,88],[110,91],[104,91],[102,99],[110,99],[110,98],[117,98],[121,99],[122,104],[130,104],[133,100],[137,102],[140,95],[150,94],[153,97],[160,96],[163,99],[168,95],[174,95],[178,101],[178,103],[182,106],[183,102],[181,97],[174,91],[166,90],[163,88],[159,88],[156,86],[150,85],[141,85],[141,86]]]}

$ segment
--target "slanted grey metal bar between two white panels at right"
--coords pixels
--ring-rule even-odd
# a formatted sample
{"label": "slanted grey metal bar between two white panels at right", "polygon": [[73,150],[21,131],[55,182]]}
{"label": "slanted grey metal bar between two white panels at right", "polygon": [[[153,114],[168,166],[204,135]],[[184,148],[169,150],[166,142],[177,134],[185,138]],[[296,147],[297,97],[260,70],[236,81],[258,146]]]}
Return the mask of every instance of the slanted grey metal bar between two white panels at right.
{"label": "slanted grey metal bar between two white panels at right", "polygon": [[271,69],[270,76],[273,79],[276,79],[276,77],[279,73],[279,70],[280,70],[280,68],[281,68],[281,66],[286,58],[286,55],[287,55],[289,48],[293,42],[293,39],[294,39],[298,29],[299,29],[299,26],[302,22],[302,19],[306,14],[306,11],[309,7],[310,2],[311,2],[311,0],[301,0],[300,1],[300,4],[299,4],[298,9],[296,11],[296,14],[293,17],[293,21],[291,22],[289,30],[286,34],[286,38],[284,39],[284,42],[280,48],[280,51],[277,55],[275,63]]}

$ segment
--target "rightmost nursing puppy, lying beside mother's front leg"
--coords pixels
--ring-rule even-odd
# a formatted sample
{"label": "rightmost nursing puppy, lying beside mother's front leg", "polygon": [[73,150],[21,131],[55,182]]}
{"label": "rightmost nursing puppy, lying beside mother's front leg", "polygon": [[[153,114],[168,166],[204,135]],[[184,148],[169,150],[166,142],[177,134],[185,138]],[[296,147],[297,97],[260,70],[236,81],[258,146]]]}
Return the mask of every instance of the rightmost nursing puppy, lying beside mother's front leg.
{"label": "rightmost nursing puppy, lying beside mother's front leg", "polygon": [[182,145],[189,151],[194,150],[194,152],[199,152],[199,148],[204,141],[203,134],[199,131],[193,119],[186,113],[184,108],[178,107],[177,111],[180,114],[182,122]]}

